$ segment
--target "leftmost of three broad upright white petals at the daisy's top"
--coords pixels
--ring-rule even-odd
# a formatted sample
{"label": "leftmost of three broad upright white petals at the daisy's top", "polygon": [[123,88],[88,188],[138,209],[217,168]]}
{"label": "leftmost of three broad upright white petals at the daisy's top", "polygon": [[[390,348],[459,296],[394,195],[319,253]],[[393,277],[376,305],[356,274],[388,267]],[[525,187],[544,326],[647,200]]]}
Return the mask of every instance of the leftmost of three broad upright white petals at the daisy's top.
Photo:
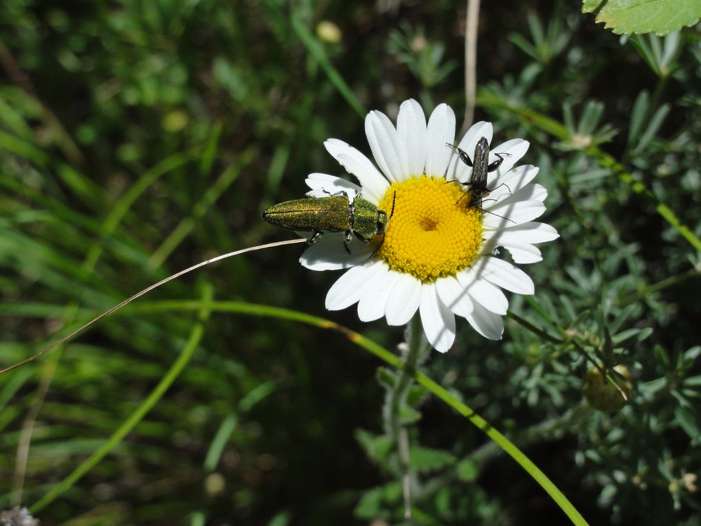
{"label": "leftmost of three broad upright white petals at the daisy's top", "polygon": [[365,117],[365,135],[377,166],[388,180],[401,182],[409,176],[407,144],[400,141],[388,116],[373,111]]}

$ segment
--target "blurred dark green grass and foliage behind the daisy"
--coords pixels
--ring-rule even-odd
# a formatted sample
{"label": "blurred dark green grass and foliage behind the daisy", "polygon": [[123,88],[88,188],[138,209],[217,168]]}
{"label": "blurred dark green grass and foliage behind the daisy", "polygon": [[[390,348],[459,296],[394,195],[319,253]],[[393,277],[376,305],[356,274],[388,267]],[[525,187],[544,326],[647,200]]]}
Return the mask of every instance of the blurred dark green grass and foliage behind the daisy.
{"label": "blurred dark green grass and foliage behind the daisy", "polygon": [[[482,5],[475,121],[494,122],[497,144],[531,142],[542,220],[562,237],[526,268],[540,312],[513,297],[501,342],[458,321],[426,372],[590,524],[701,525],[701,265],[694,234],[663,217],[701,234],[701,34],[621,38],[580,7]],[[448,0],[3,0],[0,365],[191,264],[294,237],[261,210],[303,195],[308,173],[345,173],[328,137],[369,154],[366,111],[447,102],[459,126],[464,33],[465,3]],[[194,342],[134,431],[36,513],[42,525],[401,523],[379,362],[334,332],[226,312],[285,307],[395,349],[400,329],[325,311],[338,274],[302,269],[300,250],[184,276],[0,377],[0,509],[18,485],[31,506],[64,480]],[[229,303],[200,316],[207,297]],[[585,403],[586,356],[627,366],[629,405]],[[412,523],[566,523],[423,394]]]}

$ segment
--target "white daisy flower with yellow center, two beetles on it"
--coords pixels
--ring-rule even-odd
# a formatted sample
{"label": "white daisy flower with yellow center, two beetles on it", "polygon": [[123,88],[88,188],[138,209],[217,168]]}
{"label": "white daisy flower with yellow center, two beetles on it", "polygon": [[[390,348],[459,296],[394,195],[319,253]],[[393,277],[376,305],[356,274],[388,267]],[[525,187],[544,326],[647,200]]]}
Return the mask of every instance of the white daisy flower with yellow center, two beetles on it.
{"label": "white daisy flower with yellow center, two beetles on it", "polygon": [[[377,166],[346,142],[325,142],[360,186],[320,173],[306,180],[311,196],[360,194],[388,215],[394,205],[385,234],[372,243],[354,240],[349,253],[344,234],[329,233],[302,254],[308,269],[348,269],[329,289],[327,309],[357,303],[362,321],[384,317],[389,325],[404,325],[418,311],[428,342],[441,352],[454,342],[456,315],[482,336],[501,339],[508,308],[502,289],[531,295],[534,287],[524,271],[494,256],[496,248],[508,250],[515,263],[533,263],[543,259],[536,245],[558,237],[550,225],[533,222],[545,212],[547,196],[544,187],[531,183],[538,168],[514,167],[529,143],[513,139],[491,148],[489,162],[497,154],[503,162],[488,174],[487,188],[493,190],[478,208],[469,206],[469,196],[461,199],[465,187],[447,184],[469,182],[472,168],[449,146],[455,114],[446,104],[427,124],[418,102],[407,100],[397,128],[381,112],[370,112],[365,133]],[[479,122],[458,147],[472,158],[477,142],[482,137],[491,142],[491,136],[491,123]]]}

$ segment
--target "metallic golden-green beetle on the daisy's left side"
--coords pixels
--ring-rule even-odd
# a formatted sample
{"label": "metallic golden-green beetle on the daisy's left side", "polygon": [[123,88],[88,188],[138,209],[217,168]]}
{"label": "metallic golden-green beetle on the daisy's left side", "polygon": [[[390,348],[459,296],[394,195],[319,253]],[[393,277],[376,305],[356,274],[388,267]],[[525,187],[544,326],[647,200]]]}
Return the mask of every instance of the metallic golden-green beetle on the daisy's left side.
{"label": "metallic golden-green beetle on the daisy's left side", "polygon": [[[392,208],[394,212],[394,203]],[[385,233],[389,221],[384,210],[365,201],[360,194],[351,201],[345,193],[284,201],[265,210],[263,219],[284,229],[313,231],[309,245],[317,243],[325,232],[345,232],[343,244],[349,253],[348,243],[354,235],[369,243],[372,236]]]}

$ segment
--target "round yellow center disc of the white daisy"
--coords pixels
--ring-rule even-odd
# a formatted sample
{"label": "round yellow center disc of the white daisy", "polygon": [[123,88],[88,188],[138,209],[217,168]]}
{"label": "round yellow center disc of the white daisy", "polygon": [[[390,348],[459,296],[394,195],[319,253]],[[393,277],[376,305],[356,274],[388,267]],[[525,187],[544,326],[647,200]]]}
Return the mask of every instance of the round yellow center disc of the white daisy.
{"label": "round yellow center disc of the white daisy", "polygon": [[[377,251],[393,269],[428,283],[470,267],[482,243],[482,215],[459,184],[421,175],[390,185],[379,204],[389,214]],[[395,197],[396,196],[396,197]]]}

